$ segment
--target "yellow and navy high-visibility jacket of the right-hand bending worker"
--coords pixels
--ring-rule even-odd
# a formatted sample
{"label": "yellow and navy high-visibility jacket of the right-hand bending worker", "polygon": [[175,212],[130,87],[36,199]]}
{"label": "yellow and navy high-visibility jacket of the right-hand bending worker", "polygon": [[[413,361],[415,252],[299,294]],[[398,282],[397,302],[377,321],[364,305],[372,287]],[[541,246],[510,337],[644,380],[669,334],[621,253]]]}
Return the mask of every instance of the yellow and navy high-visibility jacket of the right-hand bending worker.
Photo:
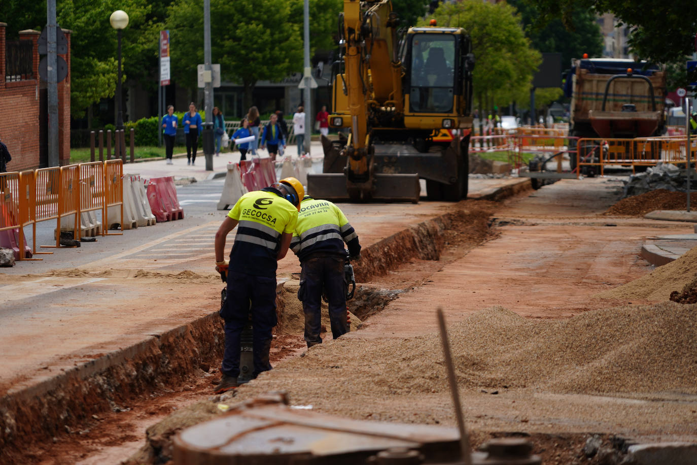
{"label": "yellow and navy high-visibility jacket of the right-hand bending worker", "polygon": [[291,250],[298,259],[302,262],[313,257],[345,257],[344,243],[351,257],[360,254],[358,234],[344,212],[330,201],[305,196],[291,241]]}

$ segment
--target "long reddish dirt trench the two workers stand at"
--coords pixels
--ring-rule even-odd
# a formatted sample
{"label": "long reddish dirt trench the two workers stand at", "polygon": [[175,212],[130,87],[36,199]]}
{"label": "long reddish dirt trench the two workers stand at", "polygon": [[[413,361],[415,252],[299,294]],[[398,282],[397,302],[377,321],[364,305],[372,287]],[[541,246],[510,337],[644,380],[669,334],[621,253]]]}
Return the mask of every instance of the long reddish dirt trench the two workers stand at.
{"label": "long reddish dirt trench the two workers stand at", "polygon": [[[360,284],[349,309],[360,319],[369,319],[486,241],[492,234],[489,218],[495,207],[491,201],[461,201],[449,213],[365,247],[355,264]],[[277,311],[290,307],[292,298],[294,293],[279,292]],[[0,458],[8,464],[82,458],[87,464],[99,463],[88,458],[105,447],[130,443],[133,452],[142,444],[139,427],[212,392],[223,341],[222,321],[213,312],[104,360],[75,367],[58,382],[6,395],[0,399]],[[278,333],[272,361],[297,355],[304,346],[301,334]],[[148,441],[156,448],[157,439]],[[130,454],[121,449],[121,459]]]}

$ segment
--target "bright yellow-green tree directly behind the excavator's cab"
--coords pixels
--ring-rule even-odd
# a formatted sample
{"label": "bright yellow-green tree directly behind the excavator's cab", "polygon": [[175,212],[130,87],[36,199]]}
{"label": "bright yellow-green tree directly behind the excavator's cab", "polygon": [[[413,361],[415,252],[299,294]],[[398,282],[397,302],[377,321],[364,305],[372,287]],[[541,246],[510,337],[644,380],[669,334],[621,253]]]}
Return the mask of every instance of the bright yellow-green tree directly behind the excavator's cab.
{"label": "bright yellow-green tree directly behind the excavator's cab", "polygon": [[542,59],[530,46],[512,6],[504,2],[443,3],[421,24],[431,18],[438,26],[460,26],[470,34],[476,59],[473,86],[480,112],[487,108],[485,99],[493,106],[526,98]]}

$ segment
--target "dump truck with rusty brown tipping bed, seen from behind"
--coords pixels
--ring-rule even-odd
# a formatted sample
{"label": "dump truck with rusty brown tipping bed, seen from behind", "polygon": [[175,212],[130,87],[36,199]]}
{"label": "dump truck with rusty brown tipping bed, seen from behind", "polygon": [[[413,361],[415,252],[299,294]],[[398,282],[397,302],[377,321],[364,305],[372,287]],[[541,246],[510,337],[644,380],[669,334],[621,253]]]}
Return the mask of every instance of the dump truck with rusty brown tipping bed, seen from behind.
{"label": "dump truck with rusty brown tipping bed, seen from behind", "polygon": [[569,136],[634,139],[666,132],[666,73],[646,61],[574,60],[565,95],[572,99]]}

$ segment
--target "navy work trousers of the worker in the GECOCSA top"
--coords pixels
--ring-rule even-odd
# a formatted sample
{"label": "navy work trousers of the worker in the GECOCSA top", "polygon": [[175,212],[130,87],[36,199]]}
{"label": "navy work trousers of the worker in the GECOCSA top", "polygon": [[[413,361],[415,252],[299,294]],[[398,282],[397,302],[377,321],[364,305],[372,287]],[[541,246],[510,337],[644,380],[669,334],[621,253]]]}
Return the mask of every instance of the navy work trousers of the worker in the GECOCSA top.
{"label": "navy work trousers of the worker in the GECOCSA top", "polygon": [[240,336],[252,315],[254,372],[252,378],[271,369],[268,353],[271,330],[276,326],[276,278],[227,273],[227,299],[220,316],[225,320],[225,353],[222,373],[240,374]]}

